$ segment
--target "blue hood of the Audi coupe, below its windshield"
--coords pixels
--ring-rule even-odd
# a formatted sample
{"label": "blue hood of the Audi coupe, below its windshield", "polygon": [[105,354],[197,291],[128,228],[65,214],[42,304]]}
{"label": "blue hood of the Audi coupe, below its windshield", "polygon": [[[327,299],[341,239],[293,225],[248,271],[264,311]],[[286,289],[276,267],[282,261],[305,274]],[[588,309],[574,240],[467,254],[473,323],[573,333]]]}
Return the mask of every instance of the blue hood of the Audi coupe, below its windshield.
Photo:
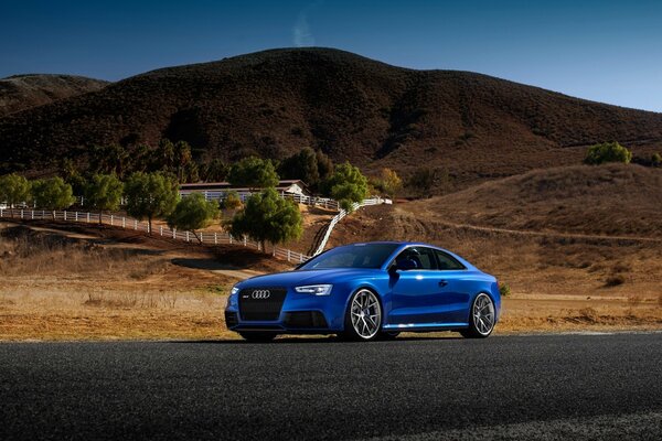
{"label": "blue hood of the Audi coupe, below its windshield", "polygon": [[354,278],[375,277],[378,269],[317,269],[276,272],[274,275],[257,276],[244,280],[236,284],[237,288],[257,288],[257,287],[299,287],[303,284],[317,283],[340,283]]}

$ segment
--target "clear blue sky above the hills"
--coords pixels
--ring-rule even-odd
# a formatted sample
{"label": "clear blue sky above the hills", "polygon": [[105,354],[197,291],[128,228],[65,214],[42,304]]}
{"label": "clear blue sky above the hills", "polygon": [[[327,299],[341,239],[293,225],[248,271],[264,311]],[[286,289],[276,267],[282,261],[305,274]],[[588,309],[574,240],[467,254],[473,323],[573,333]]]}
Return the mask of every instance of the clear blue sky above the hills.
{"label": "clear blue sky above the hills", "polygon": [[661,0],[0,0],[0,77],[117,80],[297,45],[662,111]]}

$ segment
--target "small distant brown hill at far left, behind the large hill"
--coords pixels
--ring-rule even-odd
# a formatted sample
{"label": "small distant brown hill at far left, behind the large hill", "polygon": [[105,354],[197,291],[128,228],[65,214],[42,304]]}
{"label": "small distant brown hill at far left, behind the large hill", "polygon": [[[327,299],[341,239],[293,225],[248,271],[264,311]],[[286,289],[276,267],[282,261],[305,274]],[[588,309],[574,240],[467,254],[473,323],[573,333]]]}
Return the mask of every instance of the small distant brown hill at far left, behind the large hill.
{"label": "small distant brown hill at far left, behind the large hill", "polygon": [[0,79],[0,118],[62,98],[99,90],[108,82],[74,75],[14,75]]}

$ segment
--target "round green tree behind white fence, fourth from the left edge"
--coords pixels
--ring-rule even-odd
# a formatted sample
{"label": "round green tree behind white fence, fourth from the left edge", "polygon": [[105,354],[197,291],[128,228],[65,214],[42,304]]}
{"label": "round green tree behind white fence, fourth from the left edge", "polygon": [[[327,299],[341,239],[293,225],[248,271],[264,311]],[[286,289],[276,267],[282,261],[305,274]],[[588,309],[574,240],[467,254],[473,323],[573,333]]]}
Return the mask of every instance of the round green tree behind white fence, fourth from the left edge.
{"label": "round green tree behind white fence, fourth from the left edge", "polygon": [[179,201],[179,183],[166,173],[131,174],[125,184],[127,213],[140,220],[147,218],[149,234],[154,217],[170,215]]}

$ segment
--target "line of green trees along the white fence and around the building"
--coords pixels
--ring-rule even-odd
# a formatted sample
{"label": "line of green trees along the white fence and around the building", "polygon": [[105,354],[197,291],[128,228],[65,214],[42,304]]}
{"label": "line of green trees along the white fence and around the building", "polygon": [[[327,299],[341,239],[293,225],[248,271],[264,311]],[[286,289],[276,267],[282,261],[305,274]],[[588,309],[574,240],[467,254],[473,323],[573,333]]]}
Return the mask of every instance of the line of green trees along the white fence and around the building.
{"label": "line of green trees along the white fence and around the building", "polygon": [[[305,149],[282,162],[291,170],[293,179],[311,180],[321,194],[335,198],[345,208],[362,202],[371,184],[361,171],[343,163],[333,165],[312,149]],[[200,193],[180,197],[180,179],[168,171],[134,172],[122,181],[110,170],[95,173],[78,182],[84,205],[98,212],[99,223],[104,212],[118,211],[122,198],[126,212],[140,220],[147,219],[149,230],[152,220],[166,219],[171,228],[189,230],[200,240],[197,230],[220,218],[221,209],[234,212],[231,219],[222,220],[233,235],[248,236],[263,244],[280,244],[300,238],[302,218],[297,204],[282,198],[276,191],[279,183],[277,164],[260,158],[246,158],[234,163],[227,171],[227,180],[235,186],[253,190],[242,203],[238,194],[227,193],[218,202],[206,201]],[[384,179],[373,181],[385,189],[398,184],[397,175],[386,172]],[[29,181],[17,173],[0,176],[0,201],[11,207],[29,204],[40,209],[66,209],[75,203],[74,186],[63,178]],[[264,248],[263,248],[264,249]]]}

